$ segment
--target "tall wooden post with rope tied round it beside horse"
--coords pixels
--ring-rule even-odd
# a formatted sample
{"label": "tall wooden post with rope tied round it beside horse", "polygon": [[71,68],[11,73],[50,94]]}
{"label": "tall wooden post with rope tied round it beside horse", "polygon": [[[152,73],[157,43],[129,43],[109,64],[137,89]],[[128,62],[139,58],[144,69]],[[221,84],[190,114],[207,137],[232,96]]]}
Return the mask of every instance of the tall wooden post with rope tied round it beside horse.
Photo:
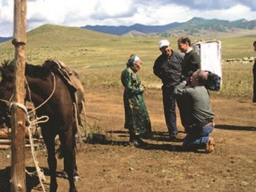
{"label": "tall wooden post with rope tied round it beside horse", "polygon": [[[13,100],[24,105],[24,71],[26,44],[26,0],[14,1],[14,31],[12,44],[15,46],[15,84]],[[25,117],[23,109],[12,108],[12,191],[26,191],[25,173]]]}

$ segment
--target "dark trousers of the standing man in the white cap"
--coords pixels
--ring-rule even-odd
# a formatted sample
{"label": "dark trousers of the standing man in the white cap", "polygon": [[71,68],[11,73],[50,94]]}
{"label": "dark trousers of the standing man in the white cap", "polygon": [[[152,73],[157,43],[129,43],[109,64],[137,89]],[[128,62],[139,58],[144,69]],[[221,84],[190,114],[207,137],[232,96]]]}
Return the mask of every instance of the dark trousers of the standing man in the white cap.
{"label": "dark trousers of the standing man in the white cap", "polygon": [[174,87],[162,87],[165,123],[170,136],[178,133],[176,125],[176,98],[173,95]]}

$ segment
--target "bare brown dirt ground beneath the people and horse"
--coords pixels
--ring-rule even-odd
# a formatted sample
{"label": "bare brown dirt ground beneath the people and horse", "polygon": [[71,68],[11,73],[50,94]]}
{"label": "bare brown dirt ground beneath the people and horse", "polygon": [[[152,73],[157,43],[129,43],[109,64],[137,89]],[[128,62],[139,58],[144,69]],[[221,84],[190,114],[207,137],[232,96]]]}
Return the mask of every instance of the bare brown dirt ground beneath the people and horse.
{"label": "bare brown dirt ground beneath the people and horse", "polygon": [[[89,125],[105,135],[78,148],[77,165],[81,182],[78,191],[256,191],[256,105],[241,98],[211,98],[216,128],[213,153],[186,152],[184,130],[178,117],[178,138],[168,141],[161,90],[146,90],[145,101],[155,139],[147,147],[127,146],[122,90],[87,90]],[[178,115],[179,116],[179,115]],[[92,117],[96,117],[94,119]],[[10,191],[10,150],[0,152],[0,189]],[[48,190],[47,153],[38,154],[45,169]],[[29,151],[28,169],[33,170]],[[58,169],[62,170],[62,160]],[[41,191],[35,177],[27,177],[28,191]],[[58,177],[58,191],[68,191],[66,179]]]}

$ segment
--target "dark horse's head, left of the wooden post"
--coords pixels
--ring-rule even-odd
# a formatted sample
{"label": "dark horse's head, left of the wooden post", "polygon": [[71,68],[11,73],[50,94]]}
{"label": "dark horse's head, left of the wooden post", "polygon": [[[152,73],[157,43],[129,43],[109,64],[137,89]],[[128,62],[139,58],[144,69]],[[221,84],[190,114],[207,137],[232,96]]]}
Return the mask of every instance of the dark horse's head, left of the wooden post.
{"label": "dark horse's head, left of the wooden post", "polygon": [[0,67],[0,126],[6,123],[10,127],[10,102],[13,95],[14,74],[12,67],[8,66],[8,61],[4,61]]}

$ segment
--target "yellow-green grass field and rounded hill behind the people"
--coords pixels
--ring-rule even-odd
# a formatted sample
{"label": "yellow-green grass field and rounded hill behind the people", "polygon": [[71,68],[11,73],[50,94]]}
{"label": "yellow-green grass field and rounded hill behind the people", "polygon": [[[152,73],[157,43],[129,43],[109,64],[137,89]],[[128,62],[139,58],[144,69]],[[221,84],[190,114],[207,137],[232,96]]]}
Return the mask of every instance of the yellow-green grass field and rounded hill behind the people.
{"label": "yellow-green grass field and rounded hill behind the people", "polygon": [[[182,35],[182,34],[181,34]],[[198,40],[197,37],[191,37]],[[200,38],[201,39],[201,38]],[[208,39],[207,37],[205,39]],[[255,36],[223,37],[222,59],[256,56],[252,48]],[[136,53],[143,59],[140,77],[148,87],[159,87],[160,81],[152,73],[152,64],[160,54],[157,42],[160,38],[118,37],[80,28],[44,25],[28,32],[26,61],[42,64],[46,59],[58,59],[77,70],[86,89],[93,87],[121,86],[119,76],[127,58]],[[176,38],[168,38],[173,50],[177,50]],[[14,49],[10,41],[0,44],[0,62],[13,59]],[[225,97],[251,97],[252,63],[224,63],[223,86],[214,94]]]}

